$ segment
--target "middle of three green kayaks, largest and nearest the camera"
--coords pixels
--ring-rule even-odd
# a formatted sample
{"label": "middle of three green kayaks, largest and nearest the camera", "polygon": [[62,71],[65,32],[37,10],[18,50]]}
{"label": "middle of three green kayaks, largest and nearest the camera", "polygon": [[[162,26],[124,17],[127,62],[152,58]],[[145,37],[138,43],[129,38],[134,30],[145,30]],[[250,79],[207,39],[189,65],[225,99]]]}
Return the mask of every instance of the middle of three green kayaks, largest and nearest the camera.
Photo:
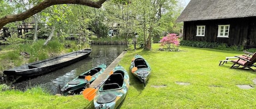
{"label": "middle of three green kayaks, largest and nearest the camera", "polygon": [[129,84],[127,71],[122,66],[115,67],[93,98],[94,107],[117,108],[126,97]]}

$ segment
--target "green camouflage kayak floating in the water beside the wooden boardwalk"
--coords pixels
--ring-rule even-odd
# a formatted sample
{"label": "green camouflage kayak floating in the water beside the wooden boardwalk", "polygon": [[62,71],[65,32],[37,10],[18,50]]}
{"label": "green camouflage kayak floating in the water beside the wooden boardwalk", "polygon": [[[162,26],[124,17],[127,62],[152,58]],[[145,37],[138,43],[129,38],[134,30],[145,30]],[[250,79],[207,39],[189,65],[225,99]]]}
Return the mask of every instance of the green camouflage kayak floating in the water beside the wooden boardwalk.
{"label": "green camouflage kayak floating in the water beside the wooden boardwalk", "polygon": [[77,76],[72,81],[68,82],[62,89],[62,95],[72,95],[80,93],[83,89],[87,88],[86,85],[90,85],[100,74],[104,72],[106,65],[102,64],[94,67],[87,72],[84,72]]}

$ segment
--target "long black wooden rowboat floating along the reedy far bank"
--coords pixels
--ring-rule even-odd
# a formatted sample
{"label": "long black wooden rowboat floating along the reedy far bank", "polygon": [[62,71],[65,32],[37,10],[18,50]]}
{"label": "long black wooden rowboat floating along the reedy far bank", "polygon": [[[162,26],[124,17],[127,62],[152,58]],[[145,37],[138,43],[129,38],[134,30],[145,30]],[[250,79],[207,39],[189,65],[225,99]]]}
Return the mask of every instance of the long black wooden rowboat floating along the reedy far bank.
{"label": "long black wooden rowboat floating along the reedy far bank", "polygon": [[77,50],[75,52],[52,57],[50,59],[35,61],[32,63],[28,63],[27,65],[4,70],[3,73],[8,76],[38,76],[44,73],[50,73],[53,70],[63,68],[64,66],[68,66],[73,64],[74,62],[85,59],[86,57],[88,57],[88,55],[90,55],[91,52],[92,49]]}

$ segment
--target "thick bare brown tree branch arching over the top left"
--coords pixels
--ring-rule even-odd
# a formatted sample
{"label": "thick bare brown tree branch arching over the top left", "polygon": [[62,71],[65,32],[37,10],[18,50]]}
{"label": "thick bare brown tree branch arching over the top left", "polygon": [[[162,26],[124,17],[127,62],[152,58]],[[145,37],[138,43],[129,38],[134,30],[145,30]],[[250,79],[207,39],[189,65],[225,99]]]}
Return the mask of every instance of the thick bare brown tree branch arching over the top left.
{"label": "thick bare brown tree branch arching over the top left", "polygon": [[87,6],[93,7],[93,8],[100,8],[100,7],[102,7],[102,4],[105,1],[106,0],[99,0],[97,2],[93,2],[90,0],[45,0],[44,2],[41,2],[37,5],[35,5],[33,8],[31,8],[25,12],[22,12],[22,13],[16,14],[16,15],[7,15],[7,16],[0,18],[0,29],[2,29],[3,26],[7,23],[25,20],[26,18],[31,17],[34,14],[37,14],[38,12],[46,9],[47,7],[50,7],[51,5],[81,4],[81,5],[87,5]]}

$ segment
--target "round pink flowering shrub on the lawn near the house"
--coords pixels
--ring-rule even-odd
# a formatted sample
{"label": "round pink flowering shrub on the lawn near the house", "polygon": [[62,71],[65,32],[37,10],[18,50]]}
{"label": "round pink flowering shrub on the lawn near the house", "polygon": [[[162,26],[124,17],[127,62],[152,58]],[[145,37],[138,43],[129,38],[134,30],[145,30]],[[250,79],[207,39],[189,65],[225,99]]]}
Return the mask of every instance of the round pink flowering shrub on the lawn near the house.
{"label": "round pink flowering shrub on the lawn near the house", "polygon": [[161,46],[166,46],[170,51],[178,51],[178,46],[180,46],[180,41],[178,41],[177,34],[168,34],[164,36],[160,42]]}

